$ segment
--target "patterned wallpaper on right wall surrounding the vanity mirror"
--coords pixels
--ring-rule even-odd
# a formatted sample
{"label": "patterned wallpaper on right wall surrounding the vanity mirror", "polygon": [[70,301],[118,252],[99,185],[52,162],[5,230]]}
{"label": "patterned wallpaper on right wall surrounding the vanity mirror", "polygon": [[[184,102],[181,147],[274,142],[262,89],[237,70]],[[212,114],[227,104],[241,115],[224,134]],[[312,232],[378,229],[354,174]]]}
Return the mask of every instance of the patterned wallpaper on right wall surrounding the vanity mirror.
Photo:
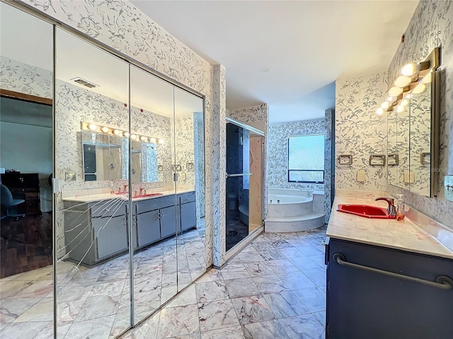
{"label": "patterned wallpaper on right wall surrounding the vanity mirror", "polygon": [[[442,75],[440,81],[440,162],[439,187],[445,174],[453,174],[453,2],[422,0],[418,4],[389,66],[389,79],[394,79],[403,64],[421,61],[434,47],[442,46]],[[444,199],[443,189],[437,199],[414,194],[389,185],[392,194],[402,193],[406,203],[453,227],[453,202]]]}

